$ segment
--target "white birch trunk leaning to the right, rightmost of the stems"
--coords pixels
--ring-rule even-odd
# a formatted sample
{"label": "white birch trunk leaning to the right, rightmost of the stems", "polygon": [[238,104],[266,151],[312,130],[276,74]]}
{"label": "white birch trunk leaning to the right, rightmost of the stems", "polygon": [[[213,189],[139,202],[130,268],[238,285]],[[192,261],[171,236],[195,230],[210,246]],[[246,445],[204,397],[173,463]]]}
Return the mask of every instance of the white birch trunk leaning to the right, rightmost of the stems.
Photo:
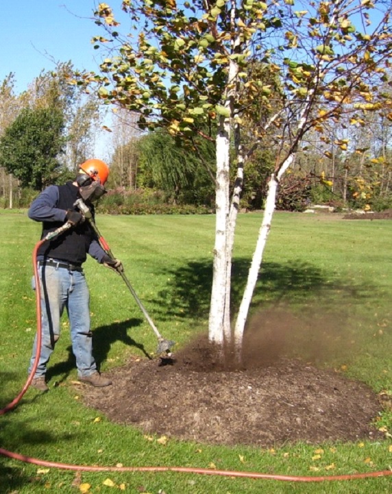
{"label": "white birch trunk leaning to the right, rightmost of the stems", "polygon": [[234,328],[234,345],[236,347],[236,354],[238,357],[241,354],[241,349],[243,344],[243,332],[245,330],[245,322],[247,320],[249,306],[252,301],[254,288],[256,286],[256,282],[258,279],[258,273],[260,271],[260,266],[262,262],[262,254],[265,249],[265,244],[267,243],[269,230],[271,229],[272,216],[273,216],[273,212],[275,211],[278,183],[280,178],[286,171],[286,169],[288,169],[289,166],[293,163],[293,160],[294,160],[294,155],[291,154],[282,164],[280,170],[278,171],[278,175],[275,176],[275,173],[272,173],[271,178],[269,180],[267,199],[265,202],[265,210],[258,234],[256,249],[254,251],[254,255],[252,258],[251,267],[249,268],[247,284],[245,286],[243,299],[241,300],[241,306],[238,310],[238,316]]}

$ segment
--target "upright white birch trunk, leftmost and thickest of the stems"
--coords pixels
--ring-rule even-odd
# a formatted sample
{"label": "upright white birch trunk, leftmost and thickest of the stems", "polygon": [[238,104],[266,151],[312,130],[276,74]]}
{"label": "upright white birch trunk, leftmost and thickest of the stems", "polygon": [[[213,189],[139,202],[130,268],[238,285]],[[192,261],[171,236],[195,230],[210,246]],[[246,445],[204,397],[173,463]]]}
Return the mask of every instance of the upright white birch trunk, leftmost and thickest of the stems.
{"label": "upright white birch trunk, leftmost and thickest of the stems", "polygon": [[208,340],[223,345],[225,328],[226,282],[228,269],[228,212],[229,212],[229,145],[230,124],[223,119],[217,135],[217,188],[216,188],[216,223],[214,247],[214,271],[210,317],[208,323]]}

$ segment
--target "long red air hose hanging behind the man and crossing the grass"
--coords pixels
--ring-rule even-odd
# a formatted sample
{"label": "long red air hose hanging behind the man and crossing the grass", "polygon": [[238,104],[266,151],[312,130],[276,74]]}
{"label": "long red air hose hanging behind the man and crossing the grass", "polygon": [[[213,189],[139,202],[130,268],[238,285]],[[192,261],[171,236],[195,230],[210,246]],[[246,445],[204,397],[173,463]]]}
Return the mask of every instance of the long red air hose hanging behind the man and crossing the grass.
{"label": "long red air hose hanging behind the man and crossing the grass", "polygon": [[[67,223],[66,223],[67,225]],[[21,393],[19,393],[16,398],[10,402],[5,408],[0,409],[0,415],[4,415],[6,412],[9,412],[18,404],[27,388],[29,388],[30,383],[33,380],[33,376],[36,372],[36,368],[38,367],[39,355],[41,347],[41,339],[42,339],[42,328],[41,328],[41,304],[40,304],[40,279],[38,275],[38,267],[37,267],[37,251],[46,240],[51,240],[54,236],[62,233],[68,227],[60,228],[49,234],[47,238],[40,240],[36,244],[36,247],[33,251],[33,266],[34,266],[34,277],[36,279],[36,314],[37,314],[37,354],[34,361],[34,365],[32,367],[32,371],[27,378],[25,386]],[[13,460],[23,461],[25,463],[31,463],[32,465],[39,465],[40,467],[48,467],[48,468],[57,468],[62,470],[73,470],[73,471],[92,471],[92,472],[103,472],[103,471],[111,471],[111,472],[177,472],[177,473],[197,473],[200,475],[208,475],[208,476],[221,476],[221,477],[241,477],[241,478],[253,478],[253,479],[263,479],[263,480],[282,480],[286,482],[324,482],[327,480],[355,480],[355,479],[363,479],[363,478],[375,478],[375,477],[387,477],[392,475],[392,470],[382,470],[382,471],[373,471],[367,473],[352,473],[350,475],[337,475],[337,476],[320,476],[320,477],[309,477],[309,476],[286,476],[272,473],[258,473],[258,472],[249,472],[249,471],[230,471],[230,470],[212,470],[212,469],[203,469],[197,467],[93,467],[90,465],[70,465],[68,463],[60,463],[53,461],[45,461],[39,460],[38,458],[32,458],[31,456],[24,456],[19,453],[14,453],[8,451],[8,449],[0,448],[0,454],[3,456],[7,456],[8,458],[12,458]]]}

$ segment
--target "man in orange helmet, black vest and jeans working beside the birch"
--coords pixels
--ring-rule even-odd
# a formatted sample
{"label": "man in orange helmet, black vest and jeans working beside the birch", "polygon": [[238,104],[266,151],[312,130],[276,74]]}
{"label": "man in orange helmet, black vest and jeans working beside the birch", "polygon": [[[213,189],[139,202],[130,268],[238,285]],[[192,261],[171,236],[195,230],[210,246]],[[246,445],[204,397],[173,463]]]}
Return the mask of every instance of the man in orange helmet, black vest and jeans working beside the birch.
{"label": "man in orange helmet, black vest and jeans working beside the birch", "polygon": [[[88,221],[75,207],[82,199],[94,214],[93,203],[106,192],[103,187],[109,168],[101,160],[91,159],[82,163],[74,182],[62,186],[49,186],[33,201],[29,218],[42,222],[42,238],[64,222],[72,227],[52,240],[40,245],[37,252],[40,276],[42,342],[38,367],[32,386],[48,391],[45,380],[47,363],[56,341],[60,338],[60,318],[66,308],[68,313],[73,354],[76,359],[77,378],[93,386],[110,386],[112,382],[97,371],[93,357],[93,341],[90,331],[89,292],[82,264],[90,254],[97,262],[116,271],[123,269],[121,261],[113,260],[101,248]],[[37,354],[37,336],[34,341],[29,373],[32,372]]]}

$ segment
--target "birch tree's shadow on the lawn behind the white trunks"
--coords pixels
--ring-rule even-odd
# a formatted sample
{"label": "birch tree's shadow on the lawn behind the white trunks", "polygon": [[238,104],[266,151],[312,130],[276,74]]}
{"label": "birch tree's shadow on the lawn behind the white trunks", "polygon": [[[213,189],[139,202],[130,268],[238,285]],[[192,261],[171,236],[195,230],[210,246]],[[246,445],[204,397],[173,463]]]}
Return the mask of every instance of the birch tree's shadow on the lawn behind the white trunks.
{"label": "birch tree's shadow on the lawn behind the white trunks", "polygon": [[[249,259],[236,258],[232,264],[232,313],[238,310],[247,275]],[[180,269],[164,271],[171,281],[167,288],[158,293],[154,301],[162,320],[173,317],[206,317],[210,306],[212,288],[212,263],[190,262]],[[344,299],[360,301],[369,295],[376,297],[375,287],[354,285],[323,271],[309,262],[262,264],[258,282],[254,291],[252,304],[258,305],[268,301],[279,304],[290,301],[304,303],[311,297],[323,297],[323,304],[343,303]]]}

